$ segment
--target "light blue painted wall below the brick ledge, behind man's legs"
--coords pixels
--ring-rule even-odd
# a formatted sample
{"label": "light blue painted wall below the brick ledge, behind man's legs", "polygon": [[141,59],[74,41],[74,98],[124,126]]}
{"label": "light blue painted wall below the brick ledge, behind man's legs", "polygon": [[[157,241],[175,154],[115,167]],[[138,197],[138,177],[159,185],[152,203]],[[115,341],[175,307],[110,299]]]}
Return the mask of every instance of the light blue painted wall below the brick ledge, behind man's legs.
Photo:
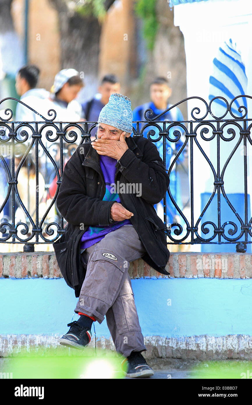
{"label": "light blue painted wall below the brick ledge, behind man's legs", "polygon": [[[144,336],[252,335],[251,279],[131,281]],[[63,335],[76,302],[64,279],[1,279],[0,335]],[[95,330],[110,337],[106,319]]]}

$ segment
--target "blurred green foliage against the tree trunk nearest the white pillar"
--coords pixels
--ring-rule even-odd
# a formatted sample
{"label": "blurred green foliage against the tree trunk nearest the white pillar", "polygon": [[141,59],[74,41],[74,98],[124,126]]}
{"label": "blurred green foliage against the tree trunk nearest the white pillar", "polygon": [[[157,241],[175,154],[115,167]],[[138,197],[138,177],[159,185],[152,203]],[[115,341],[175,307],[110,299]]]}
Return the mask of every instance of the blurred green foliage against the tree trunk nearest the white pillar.
{"label": "blurred green foliage against the tree trunk nearest the white pillar", "polygon": [[143,19],[143,34],[147,42],[147,48],[152,50],[155,44],[156,34],[159,28],[156,15],[157,0],[137,0],[135,4],[136,14]]}

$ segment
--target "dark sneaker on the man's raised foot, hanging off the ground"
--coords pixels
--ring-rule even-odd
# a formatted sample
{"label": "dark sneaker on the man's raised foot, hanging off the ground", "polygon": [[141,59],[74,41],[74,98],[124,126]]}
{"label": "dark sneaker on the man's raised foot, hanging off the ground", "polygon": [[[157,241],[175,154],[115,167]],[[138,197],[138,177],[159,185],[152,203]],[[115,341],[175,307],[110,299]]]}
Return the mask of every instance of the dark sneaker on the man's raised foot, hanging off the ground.
{"label": "dark sneaker on the man's raised foot, hanging off the ground", "polygon": [[59,341],[61,345],[83,349],[91,341],[92,333],[89,328],[83,328],[77,321],[68,324],[71,326],[66,335],[63,335]]}

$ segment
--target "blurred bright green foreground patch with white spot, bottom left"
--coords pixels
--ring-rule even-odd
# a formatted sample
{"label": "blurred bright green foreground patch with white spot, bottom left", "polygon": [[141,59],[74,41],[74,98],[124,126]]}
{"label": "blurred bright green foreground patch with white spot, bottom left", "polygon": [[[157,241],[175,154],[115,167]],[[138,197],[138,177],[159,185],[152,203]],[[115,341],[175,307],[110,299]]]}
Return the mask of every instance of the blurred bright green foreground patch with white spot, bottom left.
{"label": "blurred bright green foreground patch with white spot, bottom left", "polygon": [[[68,347],[21,350],[6,359],[0,372],[12,373],[11,378],[88,379],[124,378],[123,356],[112,350],[73,350]],[[10,375],[10,374],[9,374]]]}

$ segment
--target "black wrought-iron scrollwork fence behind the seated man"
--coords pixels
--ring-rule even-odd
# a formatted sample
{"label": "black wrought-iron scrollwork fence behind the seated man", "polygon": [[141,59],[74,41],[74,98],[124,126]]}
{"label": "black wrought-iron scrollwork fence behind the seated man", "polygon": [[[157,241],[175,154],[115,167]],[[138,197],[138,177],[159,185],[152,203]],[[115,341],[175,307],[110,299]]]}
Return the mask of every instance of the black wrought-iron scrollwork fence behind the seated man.
{"label": "black wrought-iron scrollwork fence behind the seated man", "polygon": [[[181,140],[182,134],[184,134],[185,140],[180,147],[180,150],[176,153],[176,156],[174,156],[173,160],[169,164],[169,167],[167,167],[167,173],[170,175],[172,173],[172,170],[176,167],[176,164],[179,161],[180,156],[182,156],[182,153],[186,150],[188,145],[190,147],[196,147],[199,152],[202,154],[206,162],[208,162],[208,165],[210,167],[211,173],[214,177],[214,184],[213,184],[213,192],[212,195],[210,196],[208,202],[206,203],[205,207],[203,208],[201,214],[199,217],[192,221],[193,217],[193,206],[191,205],[191,218],[186,217],[184,214],[183,210],[181,207],[178,206],[177,201],[174,199],[174,196],[172,195],[171,190],[168,188],[168,195],[170,199],[170,203],[176,207],[176,210],[178,211],[180,215],[180,219],[182,221],[181,223],[174,222],[170,224],[169,227],[166,228],[166,233],[167,233],[167,238],[171,241],[171,243],[174,244],[201,244],[201,243],[236,243],[237,244],[237,250],[239,249],[246,249],[246,244],[251,243],[251,241],[248,240],[248,237],[252,237],[252,217],[248,218],[248,212],[246,214],[245,212],[245,217],[244,220],[241,218],[241,215],[237,213],[236,207],[233,207],[231,202],[229,201],[229,198],[225,192],[224,189],[224,175],[225,171],[227,169],[228,165],[232,164],[232,157],[234,156],[235,152],[237,151],[238,147],[241,145],[242,141],[246,142],[248,141],[248,145],[252,145],[252,139],[251,139],[251,134],[250,130],[252,127],[252,119],[246,118],[248,114],[248,108],[246,106],[239,106],[238,111],[241,114],[240,117],[237,117],[233,111],[232,111],[232,106],[234,105],[236,100],[239,101],[240,98],[248,98],[252,99],[252,96],[246,96],[246,95],[241,95],[235,97],[231,102],[228,102],[226,99],[223,97],[215,97],[210,102],[206,102],[203,98],[201,97],[188,97],[185,98],[184,100],[181,100],[180,102],[174,104],[172,107],[169,107],[169,109],[163,111],[159,115],[155,116],[153,119],[153,111],[151,109],[147,109],[144,112],[144,118],[146,121],[137,121],[134,124],[136,124],[136,128],[133,128],[133,137],[135,136],[144,136],[143,132],[148,131],[148,128],[156,128],[155,131],[153,129],[149,129],[147,133],[147,138],[152,141],[153,143],[161,142],[163,141],[163,150],[165,150],[165,145],[166,143],[174,144],[178,141]],[[226,104],[226,111],[224,114],[217,116],[213,113],[212,111],[212,105],[214,100],[221,99],[225,104]],[[11,198],[11,204],[13,207],[13,204],[15,202],[15,199],[18,201],[21,209],[23,209],[26,217],[27,217],[27,223],[25,224],[24,222],[19,222],[15,223],[15,212],[12,211],[11,213],[11,220],[10,221],[2,221],[0,224],[0,232],[2,233],[3,237],[0,238],[0,241],[5,242],[5,243],[26,243],[28,245],[36,244],[36,243],[53,243],[55,240],[57,240],[58,237],[61,236],[62,233],[64,233],[64,218],[60,217],[59,222],[47,222],[47,215],[50,211],[50,209],[54,206],[55,200],[57,198],[57,194],[59,191],[59,186],[62,180],[62,174],[63,174],[63,164],[64,164],[64,145],[65,144],[70,144],[70,143],[76,143],[78,138],[80,138],[80,143],[81,145],[83,142],[91,142],[91,130],[95,128],[96,124],[95,122],[56,122],[55,119],[57,118],[56,111],[51,109],[48,111],[48,117],[44,117],[32,107],[27,106],[25,103],[23,103],[20,100],[17,100],[15,98],[4,98],[1,102],[0,105],[3,102],[7,102],[8,100],[15,100],[16,102],[21,103],[34,113],[38,114],[42,118],[43,121],[40,122],[15,122],[11,121],[13,117],[13,111],[9,108],[6,108],[4,110],[4,115],[7,117],[2,117],[2,113],[0,115],[0,146],[4,145],[6,143],[11,143],[12,145],[17,145],[17,144],[25,144],[28,141],[28,131],[32,133],[31,138],[32,142],[29,145],[25,155],[23,156],[23,159],[19,163],[19,166],[16,170],[16,172],[13,170],[14,168],[14,156],[11,156],[11,167],[8,166],[6,163],[6,160],[4,156],[0,153],[0,159],[2,161],[2,167],[5,170],[6,177],[8,179],[8,189],[6,191],[6,195],[4,200],[2,201],[2,205],[0,206],[0,213],[3,211],[4,206],[6,205],[7,201]],[[201,105],[203,105],[203,111],[201,112],[202,107],[193,107],[191,110],[191,119],[190,120],[183,120],[183,121],[158,121],[158,119],[165,114],[166,112],[174,109],[175,107],[178,107],[180,104],[183,102],[187,102],[188,100],[196,100],[197,102],[200,102]],[[227,118],[227,115],[231,116],[231,119]],[[50,117],[50,118],[49,118]],[[88,129],[88,125],[91,124],[91,127]],[[139,124],[143,124],[141,130]],[[173,128],[176,126],[176,130],[174,131]],[[235,126],[236,129],[233,127]],[[73,129],[74,127],[74,129]],[[69,129],[71,130],[69,131]],[[179,129],[178,129],[179,128]],[[224,132],[227,132],[230,136],[225,136]],[[19,139],[17,137],[17,132],[19,136],[21,136],[22,139]],[[199,139],[201,139],[204,142],[210,142],[210,141],[216,141],[220,142],[220,140],[224,142],[230,142],[235,139],[237,136],[237,132],[239,133],[239,139],[237,138],[237,142],[231,151],[230,156],[227,158],[227,161],[224,164],[224,167],[222,168],[222,171],[218,173],[218,171],[214,168],[213,162],[210,161],[208,156],[206,155],[203,147],[199,143]],[[66,134],[68,133],[68,137]],[[172,135],[170,134],[172,133]],[[157,136],[158,134],[158,136]],[[208,136],[209,135],[209,136]],[[154,136],[156,136],[155,139]],[[45,145],[45,142],[48,142],[50,144],[59,142],[59,147],[60,147],[60,168],[57,167],[57,164],[51,156],[51,154],[48,152],[47,147]],[[78,145],[78,146],[79,146]],[[31,213],[29,213],[27,207],[23,204],[19,192],[17,189],[17,183],[18,183],[18,175],[20,172],[21,167],[23,166],[25,160],[28,158],[29,153],[32,152],[32,150],[35,149],[35,164],[38,166],[38,148],[44,152],[44,154],[47,156],[48,161],[51,162],[51,166],[53,166],[53,169],[55,170],[55,176],[57,176],[57,190],[55,192],[54,197],[51,200],[50,205],[47,207],[45,210],[44,214],[42,217],[38,217],[36,214],[36,220],[34,221],[32,219]],[[15,146],[14,148],[15,149]],[[1,150],[0,150],[1,152]],[[190,156],[190,159],[192,156]],[[247,159],[247,157],[246,157]],[[244,159],[244,161],[246,160]],[[163,161],[165,163],[165,156],[163,156]],[[192,165],[192,166],[191,166]],[[38,171],[38,167],[36,166],[36,173]],[[193,160],[190,160],[190,170],[193,168]],[[246,176],[245,176],[246,177]],[[244,183],[245,183],[245,188],[247,184],[247,178],[244,177]],[[193,197],[193,179],[191,179],[191,184],[190,184],[190,198],[192,201]],[[203,217],[205,212],[207,211],[208,207],[212,203],[212,200],[214,198],[214,195],[216,194],[222,194],[224,196],[224,199],[227,203],[228,209],[230,209],[235,217],[237,218],[237,221],[239,222],[239,227],[240,230],[238,230],[238,226],[235,222],[233,221],[225,221],[223,224],[218,221],[218,224],[214,223],[213,221],[205,221],[203,222]],[[245,192],[246,195],[246,192]],[[37,196],[38,197],[38,196]],[[220,202],[220,199],[218,197],[218,203]],[[36,205],[39,205],[40,202],[38,201],[38,198],[36,199]],[[248,205],[248,201],[245,202]],[[164,197],[164,207],[167,206],[167,201],[166,201],[166,196]],[[36,206],[36,211],[38,211],[38,207]],[[245,211],[248,211],[245,207]],[[247,215],[247,217],[246,217]],[[218,220],[220,218],[218,217]],[[202,223],[203,222],[203,223]],[[201,223],[201,226],[200,226]],[[164,224],[167,226],[166,223],[166,217],[164,214]],[[18,230],[19,228],[23,227],[23,229],[20,231],[21,235],[26,236],[25,238],[22,238],[20,235],[18,235]],[[43,229],[44,227],[44,229]],[[54,231],[51,229],[51,227],[54,228]],[[212,228],[212,234],[210,235],[210,227]],[[230,229],[226,229],[229,227]],[[199,234],[199,229],[201,230],[201,234]],[[237,234],[238,233],[238,234]],[[52,235],[53,238],[50,238]],[[191,235],[191,239],[188,241],[189,236]],[[208,237],[205,237],[209,235]],[[49,238],[48,238],[48,237]],[[34,239],[35,241],[32,241]],[[215,237],[218,237],[218,242],[214,242]],[[41,241],[39,241],[39,238]],[[243,240],[241,240],[243,239]],[[29,243],[28,243],[29,242]]]}

